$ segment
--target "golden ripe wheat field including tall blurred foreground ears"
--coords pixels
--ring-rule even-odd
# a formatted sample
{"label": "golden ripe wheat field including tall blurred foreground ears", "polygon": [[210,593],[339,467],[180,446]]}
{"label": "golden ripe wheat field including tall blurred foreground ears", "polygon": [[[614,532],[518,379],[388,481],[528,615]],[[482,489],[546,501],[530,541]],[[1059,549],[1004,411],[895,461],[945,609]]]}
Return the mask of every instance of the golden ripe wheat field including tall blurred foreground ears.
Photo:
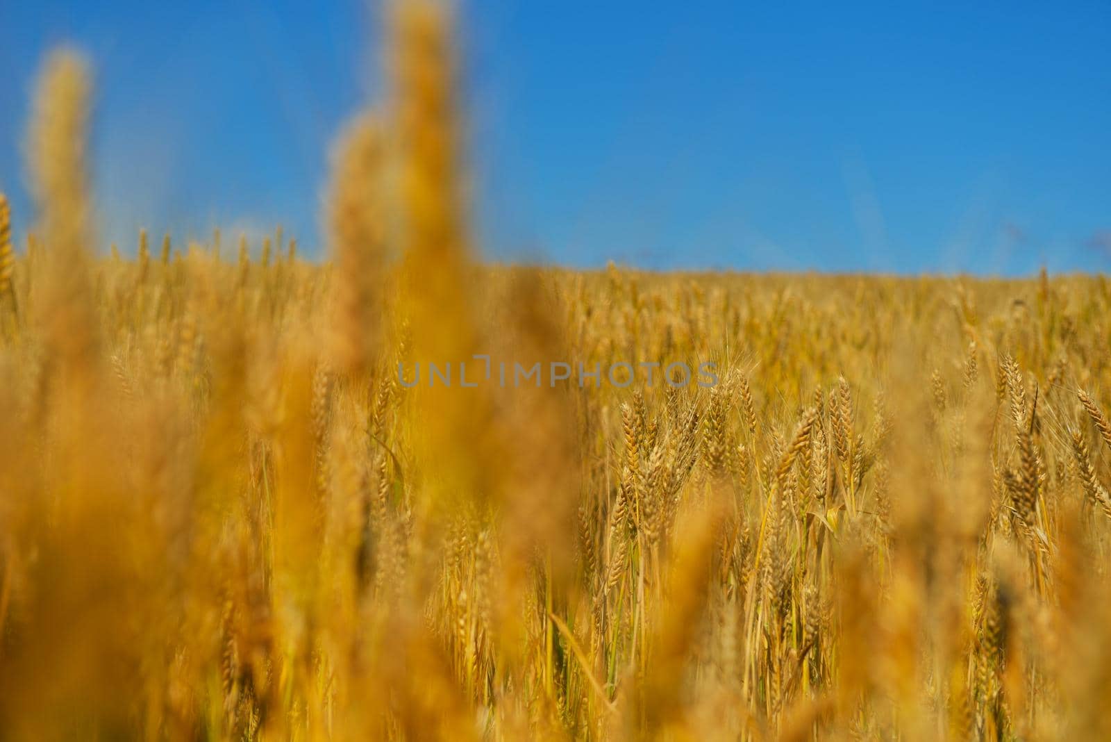
{"label": "golden ripe wheat field including tall blurred foreground ears", "polygon": [[0,739],[1111,739],[1105,279],[486,264],[451,34],[397,4],[323,264],[101,250],[46,61]]}

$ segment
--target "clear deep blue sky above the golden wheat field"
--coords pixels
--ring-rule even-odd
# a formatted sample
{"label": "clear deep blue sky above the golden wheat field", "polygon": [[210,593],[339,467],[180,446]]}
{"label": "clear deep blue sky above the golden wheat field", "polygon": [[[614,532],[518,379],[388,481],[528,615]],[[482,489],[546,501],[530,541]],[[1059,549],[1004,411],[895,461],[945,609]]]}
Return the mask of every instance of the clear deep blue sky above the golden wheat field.
{"label": "clear deep blue sky above the golden wheat field", "polygon": [[[462,3],[473,213],[498,260],[1021,274],[1111,265],[1105,2]],[[96,7],[93,7],[96,6]],[[0,1],[0,189],[43,52],[93,62],[103,242],[323,244],[328,146],[377,97],[359,0]],[[17,223],[17,231],[21,231]]]}

